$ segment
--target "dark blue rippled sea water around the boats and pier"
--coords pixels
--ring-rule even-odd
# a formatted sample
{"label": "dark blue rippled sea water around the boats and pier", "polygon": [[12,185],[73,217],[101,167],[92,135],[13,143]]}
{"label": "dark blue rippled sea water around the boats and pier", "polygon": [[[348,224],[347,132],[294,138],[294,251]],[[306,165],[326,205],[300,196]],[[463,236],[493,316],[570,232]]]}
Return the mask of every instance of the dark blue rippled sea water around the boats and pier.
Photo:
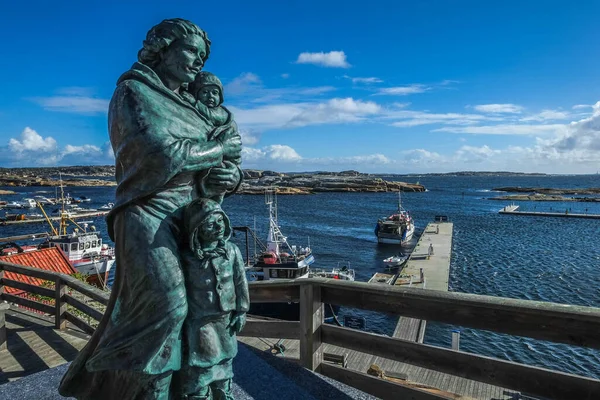
{"label": "dark blue rippled sea water around the boats and pier", "polygon": [[[447,215],[454,222],[451,291],[600,307],[600,220],[500,215],[498,210],[509,202],[488,200],[500,195],[491,190],[501,186],[600,187],[600,175],[385,178],[418,181],[428,189],[402,195],[403,206],[415,219],[416,237],[436,215]],[[39,191],[54,192],[52,188],[6,189],[20,193],[3,197],[9,201]],[[115,192],[114,188],[66,191],[73,197],[91,197],[89,207],[113,201]],[[314,266],[331,268],[349,262],[357,280],[367,281],[383,271],[382,259],[398,252],[394,246],[379,246],[373,233],[377,218],[388,215],[396,204],[396,193],[279,196],[279,224],[291,244],[306,246],[310,240]],[[517,204],[524,210],[600,214],[600,203]],[[266,238],[268,210],[263,196],[234,195],[225,200],[224,208],[234,225],[256,223],[260,237]],[[103,219],[94,224],[106,232]],[[44,229],[42,225],[0,227],[0,236]],[[106,234],[104,238],[108,240]],[[242,236],[235,240],[243,248]],[[397,322],[391,315],[360,310],[342,308],[340,313],[364,316],[367,329],[382,334],[391,334]],[[600,378],[600,352],[585,348],[434,322],[428,323],[425,342],[450,347],[454,329],[461,331],[461,350]]]}

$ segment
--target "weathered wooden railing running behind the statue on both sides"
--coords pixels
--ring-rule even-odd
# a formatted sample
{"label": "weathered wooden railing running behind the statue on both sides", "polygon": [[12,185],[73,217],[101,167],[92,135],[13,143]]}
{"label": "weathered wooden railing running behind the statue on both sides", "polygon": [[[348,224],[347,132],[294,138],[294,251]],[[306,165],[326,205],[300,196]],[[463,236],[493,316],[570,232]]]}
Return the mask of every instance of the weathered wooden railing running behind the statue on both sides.
{"label": "weathered wooden railing running behind the statue on both sides", "polygon": [[[54,282],[49,289],[4,278],[4,271]],[[4,293],[5,286],[54,299],[54,305]],[[70,292],[70,293],[69,293]],[[87,333],[94,327],[78,310],[99,321],[102,311],[78,299],[106,305],[109,295],[67,275],[0,262],[0,295],[9,303],[54,315],[55,325],[69,322]],[[253,302],[300,302],[300,321],[249,320],[241,336],[297,339],[300,363],[313,371],[381,398],[447,399],[323,362],[324,344],[485,382],[548,399],[600,399],[600,381],[544,368],[502,361],[323,323],[323,304],[380,311],[464,327],[526,336],[555,343],[600,349],[600,309],[574,305],[369,285],[328,279],[252,282]],[[1,338],[0,333],[0,338]],[[1,345],[1,343],[0,343]]]}

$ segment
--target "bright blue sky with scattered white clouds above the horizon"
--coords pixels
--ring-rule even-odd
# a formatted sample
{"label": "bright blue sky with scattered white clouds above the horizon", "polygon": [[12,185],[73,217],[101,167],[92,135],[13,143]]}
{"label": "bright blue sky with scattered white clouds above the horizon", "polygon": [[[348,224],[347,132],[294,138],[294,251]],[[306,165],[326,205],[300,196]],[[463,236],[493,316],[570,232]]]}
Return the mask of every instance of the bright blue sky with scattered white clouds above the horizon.
{"label": "bright blue sky with scattered white clouds above the horizon", "polygon": [[204,69],[244,168],[596,173],[598,15],[583,0],[7,2],[0,166],[114,163],[115,82],[152,25],[181,17],[213,42]]}

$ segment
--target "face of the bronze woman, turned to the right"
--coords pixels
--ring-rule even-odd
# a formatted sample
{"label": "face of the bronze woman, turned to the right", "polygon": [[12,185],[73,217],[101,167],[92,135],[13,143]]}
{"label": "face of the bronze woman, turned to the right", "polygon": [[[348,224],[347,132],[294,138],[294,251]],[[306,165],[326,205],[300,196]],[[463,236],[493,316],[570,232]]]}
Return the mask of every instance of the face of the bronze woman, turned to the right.
{"label": "face of the bronze woman, turned to the right", "polygon": [[204,66],[206,43],[198,35],[187,36],[171,43],[162,53],[161,69],[172,79],[189,83]]}

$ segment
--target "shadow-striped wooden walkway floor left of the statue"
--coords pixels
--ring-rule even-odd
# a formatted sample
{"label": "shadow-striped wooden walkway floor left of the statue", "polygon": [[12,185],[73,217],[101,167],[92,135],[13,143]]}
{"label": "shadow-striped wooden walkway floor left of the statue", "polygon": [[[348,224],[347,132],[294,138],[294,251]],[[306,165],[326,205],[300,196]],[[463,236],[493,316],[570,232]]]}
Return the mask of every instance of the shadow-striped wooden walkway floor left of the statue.
{"label": "shadow-striped wooden walkway floor left of the statue", "polygon": [[54,329],[54,318],[11,306],[7,349],[0,350],[0,384],[72,361],[89,336]]}

